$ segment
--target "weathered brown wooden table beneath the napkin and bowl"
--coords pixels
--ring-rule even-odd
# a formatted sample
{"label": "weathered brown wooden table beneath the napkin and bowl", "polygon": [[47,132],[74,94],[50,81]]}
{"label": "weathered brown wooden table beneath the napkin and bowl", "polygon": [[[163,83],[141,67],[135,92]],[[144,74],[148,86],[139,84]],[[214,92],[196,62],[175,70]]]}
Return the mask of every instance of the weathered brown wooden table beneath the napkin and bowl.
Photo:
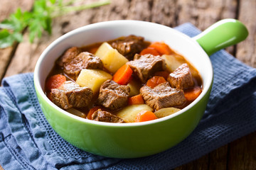
{"label": "weathered brown wooden table beneath the napkin and bowl", "polygon": [[[33,0],[1,0],[0,21],[17,7],[29,10],[32,4]],[[43,37],[33,44],[28,42],[25,32],[23,42],[0,50],[0,80],[13,74],[33,72],[39,55],[50,42],[90,23],[132,19],[175,27],[191,22],[204,30],[223,18],[237,18],[245,23],[250,32],[249,37],[238,45],[228,47],[227,51],[245,64],[256,67],[255,0],[112,0],[110,5],[55,19],[53,34],[49,36],[43,33]],[[256,132],[176,169],[256,169]]]}

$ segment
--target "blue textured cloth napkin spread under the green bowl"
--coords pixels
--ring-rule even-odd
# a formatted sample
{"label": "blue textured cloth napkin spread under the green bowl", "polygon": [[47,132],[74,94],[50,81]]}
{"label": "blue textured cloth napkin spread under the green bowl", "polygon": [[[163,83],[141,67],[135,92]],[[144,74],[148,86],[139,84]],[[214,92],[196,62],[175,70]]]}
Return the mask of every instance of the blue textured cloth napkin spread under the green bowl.
{"label": "blue textured cloth napkin spread under the green bowl", "polygon": [[[176,28],[193,37],[191,23]],[[84,152],[50,127],[36,98],[33,73],[17,74],[0,88],[0,164],[4,169],[173,169],[256,130],[256,69],[224,50],[210,56],[213,89],[196,130],[150,157],[111,159]]]}

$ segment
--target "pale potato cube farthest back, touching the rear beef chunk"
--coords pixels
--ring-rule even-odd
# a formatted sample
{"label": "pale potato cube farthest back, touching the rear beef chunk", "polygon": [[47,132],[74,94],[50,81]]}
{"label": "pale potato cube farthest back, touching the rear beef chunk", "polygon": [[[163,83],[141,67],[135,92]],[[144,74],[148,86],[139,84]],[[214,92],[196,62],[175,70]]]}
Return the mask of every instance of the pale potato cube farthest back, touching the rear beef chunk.
{"label": "pale potato cube farthest back, touching the rear beef chunk", "polygon": [[107,42],[100,45],[95,55],[100,57],[104,67],[112,73],[117,72],[117,69],[128,62],[126,57],[121,55],[116,49],[112,48]]}

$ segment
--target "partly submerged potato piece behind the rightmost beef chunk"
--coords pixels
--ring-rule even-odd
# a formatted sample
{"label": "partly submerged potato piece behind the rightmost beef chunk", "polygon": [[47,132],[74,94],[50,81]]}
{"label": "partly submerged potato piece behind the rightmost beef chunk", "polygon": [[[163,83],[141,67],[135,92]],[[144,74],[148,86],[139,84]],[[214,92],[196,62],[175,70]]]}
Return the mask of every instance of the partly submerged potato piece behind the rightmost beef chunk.
{"label": "partly submerged potato piece behind the rightmost beef chunk", "polygon": [[172,54],[172,55],[162,55],[161,56],[166,62],[166,69],[169,72],[174,72],[176,68],[178,68],[181,64],[188,64],[189,69],[191,70],[191,74],[193,77],[200,77],[198,71],[191,65],[189,62],[185,60],[182,55]]}

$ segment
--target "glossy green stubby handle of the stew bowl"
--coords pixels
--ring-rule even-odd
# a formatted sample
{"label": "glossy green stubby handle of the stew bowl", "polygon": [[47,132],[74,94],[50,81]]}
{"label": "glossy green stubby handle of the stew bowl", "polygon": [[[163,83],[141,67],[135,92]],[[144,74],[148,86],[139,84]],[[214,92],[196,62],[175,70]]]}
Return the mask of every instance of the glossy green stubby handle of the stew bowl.
{"label": "glossy green stubby handle of the stew bowl", "polygon": [[210,56],[214,52],[230,45],[235,45],[245,40],[248,30],[240,21],[235,19],[223,19],[213,24],[193,39]]}

